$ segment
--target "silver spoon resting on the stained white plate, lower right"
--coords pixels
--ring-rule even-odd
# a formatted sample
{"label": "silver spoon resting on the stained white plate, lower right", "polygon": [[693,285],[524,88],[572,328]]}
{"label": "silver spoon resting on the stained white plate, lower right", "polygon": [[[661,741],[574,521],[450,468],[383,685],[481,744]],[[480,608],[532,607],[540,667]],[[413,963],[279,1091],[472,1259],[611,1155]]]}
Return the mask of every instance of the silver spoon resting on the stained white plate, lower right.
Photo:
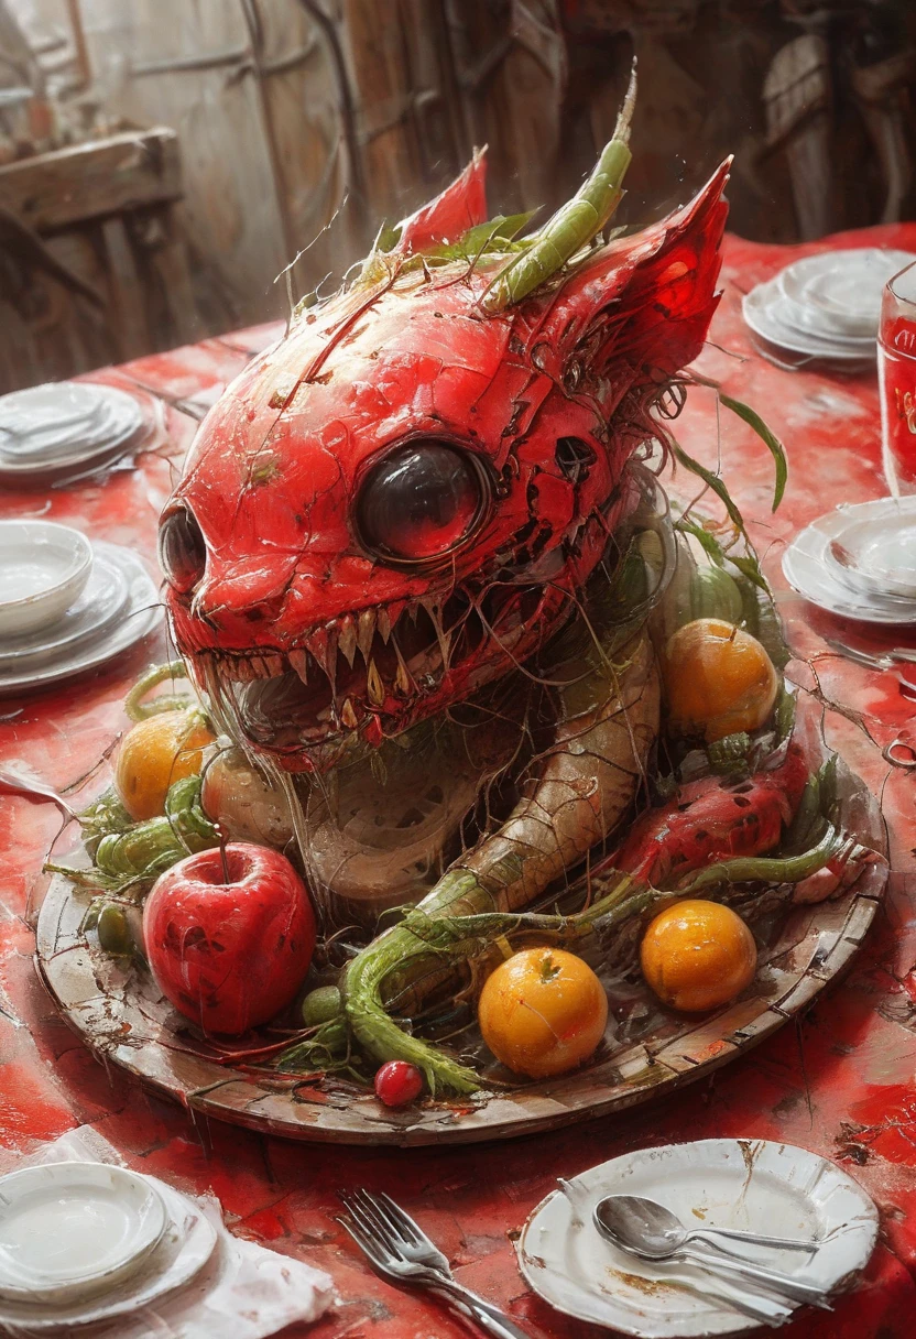
{"label": "silver spoon resting on the stained white plate, lower right", "polygon": [[[755,1279],[794,1302],[806,1302],[830,1310],[826,1292],[820,1284],[804,1283],[793,1275],[767,1269],[743,1257],[714,1253],[702,1247],[691,1248],[692,1233],[684,1228],[676,1214],[654,1200],[632,1194],[605,1196],[595,1205],[595,1225],[601,1236],[629,1255],[641,1256],[643,1260],[680,1257],[699,1264],[712,1273]],[[770,1237],[767,1245],[771,1245],[773,1240]]]}

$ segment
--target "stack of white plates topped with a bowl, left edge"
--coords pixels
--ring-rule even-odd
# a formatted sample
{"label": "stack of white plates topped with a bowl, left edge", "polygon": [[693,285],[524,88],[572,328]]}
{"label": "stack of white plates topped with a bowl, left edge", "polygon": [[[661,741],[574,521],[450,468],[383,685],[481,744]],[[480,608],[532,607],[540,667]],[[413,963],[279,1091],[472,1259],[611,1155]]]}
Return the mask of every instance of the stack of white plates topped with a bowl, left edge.
{"label": "stack of white plates topped with a bowl, left edge", "polygon": [[130,549],[52,521],[0,521],[0,696],[94,670],[159,617]]}

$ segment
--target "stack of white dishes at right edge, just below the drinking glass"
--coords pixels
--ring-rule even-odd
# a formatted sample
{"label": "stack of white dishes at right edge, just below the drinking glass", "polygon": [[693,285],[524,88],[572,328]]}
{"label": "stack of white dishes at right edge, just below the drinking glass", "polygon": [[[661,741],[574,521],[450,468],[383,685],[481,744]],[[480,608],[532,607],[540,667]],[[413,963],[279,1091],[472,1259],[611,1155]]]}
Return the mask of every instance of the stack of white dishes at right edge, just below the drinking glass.
{"label": "stack of white dishes at right edge, just below the drinking glass", "polygon": [[782,570],[795,590],[830,613],[916,624],[916,497],[828,511],[786,549]]}

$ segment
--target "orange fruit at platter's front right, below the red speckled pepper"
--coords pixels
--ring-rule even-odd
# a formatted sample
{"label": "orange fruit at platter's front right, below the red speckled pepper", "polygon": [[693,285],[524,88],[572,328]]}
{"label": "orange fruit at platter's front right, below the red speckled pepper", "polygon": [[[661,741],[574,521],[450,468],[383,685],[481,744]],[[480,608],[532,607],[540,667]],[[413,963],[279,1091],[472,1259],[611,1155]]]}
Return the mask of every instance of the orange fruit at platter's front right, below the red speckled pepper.
{"label": "orange fruit at platter's front right, below the red speckled pepper", "polygon": [[664,1004],[702,1014],[750,986],[757,944],[730,907],[688,897],[659,912],[643,936],[640,961]]}

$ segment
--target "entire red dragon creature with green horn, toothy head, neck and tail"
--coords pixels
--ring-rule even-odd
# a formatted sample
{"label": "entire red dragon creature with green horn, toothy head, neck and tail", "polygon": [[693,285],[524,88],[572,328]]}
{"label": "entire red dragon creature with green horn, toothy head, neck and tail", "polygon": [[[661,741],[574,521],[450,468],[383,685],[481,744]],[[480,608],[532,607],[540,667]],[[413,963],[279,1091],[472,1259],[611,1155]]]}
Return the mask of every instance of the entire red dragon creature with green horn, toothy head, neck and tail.
{"label": "entire red dragon creature with green horn, toothy head, neck and tail", "polygon": [[532,236],[487,221],[482,155],[383,229],[226,390],[162,516],[177,645],[325,917],[423,898],[347,963],[311,1065],[355,1043],[474,1089],[391,1015],[454,994],[449,945],[568,885],[648,795],[676,544],[644,462],[718,301],[729,163],[608,240],[632,92]]}

